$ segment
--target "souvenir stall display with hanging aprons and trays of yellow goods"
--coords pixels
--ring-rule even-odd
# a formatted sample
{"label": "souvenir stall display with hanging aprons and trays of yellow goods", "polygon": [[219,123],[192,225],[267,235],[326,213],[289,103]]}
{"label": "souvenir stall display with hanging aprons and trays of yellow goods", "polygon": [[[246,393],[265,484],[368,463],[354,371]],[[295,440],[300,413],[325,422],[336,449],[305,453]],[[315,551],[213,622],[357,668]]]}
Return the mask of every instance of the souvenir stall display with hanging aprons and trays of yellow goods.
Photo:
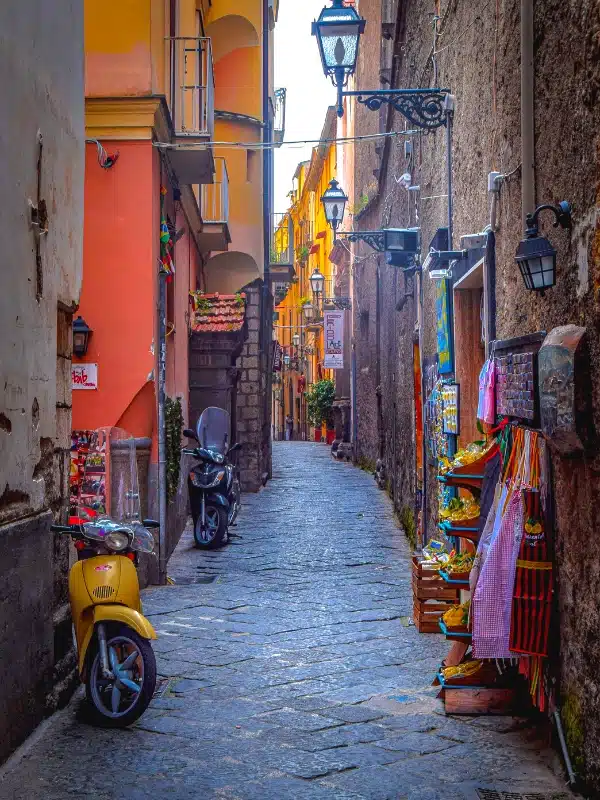
{"label": "souvenir stall display with hanging aprons and trays of yellow goods", "polygon": [[440,541],[423,557],[429,565],[413,569],[457,593],[438,619],[452,642],[436,677],[446,713],[510,713],[524,686],[538,710],[554,708],[552,499],[546,442],[531,426],[539,403],[528,344],[510,352],[499,343],[481,371],[473,409],[481,441],[453,453],[441,381],[429,398]]}

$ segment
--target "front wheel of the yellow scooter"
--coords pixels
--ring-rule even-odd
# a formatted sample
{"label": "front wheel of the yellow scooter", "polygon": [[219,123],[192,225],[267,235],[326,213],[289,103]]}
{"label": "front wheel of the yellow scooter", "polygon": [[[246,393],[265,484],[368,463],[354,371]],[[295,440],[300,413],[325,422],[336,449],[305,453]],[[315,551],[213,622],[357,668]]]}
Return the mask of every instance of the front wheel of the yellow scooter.
{"label": "front wheel of the yellow scooter", "polygon": [[86,695],[92,721],[126,728],[148,708],[156,690],[156,658],[150,643],[127,625],[107,628],[108,657],[115,679],[102,675],[98,640],[88,660]]}

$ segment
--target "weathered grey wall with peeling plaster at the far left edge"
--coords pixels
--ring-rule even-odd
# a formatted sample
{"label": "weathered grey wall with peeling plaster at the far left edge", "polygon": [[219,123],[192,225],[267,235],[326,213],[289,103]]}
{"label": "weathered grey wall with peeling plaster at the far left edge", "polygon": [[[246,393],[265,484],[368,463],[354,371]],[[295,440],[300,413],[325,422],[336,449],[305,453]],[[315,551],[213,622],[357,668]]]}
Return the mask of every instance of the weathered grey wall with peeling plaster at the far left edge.
{"label": "weathered grey wall with peeling plaster at the far left edge", "polygon": [[[68,694],[71,323],[83,230],[83,4],[0,7],[0,759]],[[47,233],[36,237],[30,203]]]}

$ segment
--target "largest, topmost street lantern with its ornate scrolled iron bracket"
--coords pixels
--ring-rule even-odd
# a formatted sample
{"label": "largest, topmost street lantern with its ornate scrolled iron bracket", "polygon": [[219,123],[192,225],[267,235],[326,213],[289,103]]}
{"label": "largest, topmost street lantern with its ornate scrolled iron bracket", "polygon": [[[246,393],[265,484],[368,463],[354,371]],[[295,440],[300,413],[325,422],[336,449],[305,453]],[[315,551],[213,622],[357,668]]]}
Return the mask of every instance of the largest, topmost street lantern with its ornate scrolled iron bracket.
{"label": "largest, topmost street lantern with its ornate scrolled iron bracket", "polygon": [[446,104],[448,89],[344,91],[348,78],[356,71],[359,42],[365,25],[366,20],[351,6],[344,6],[343,0],[333,0],[331,8],[324,8],[319,19],[312,24],[323,72],[338,90],[338,116],[344,116],[344,97],[354,96],[371,111],[389,103],[419,128],[434,130],[445,125],[449,111]]}

